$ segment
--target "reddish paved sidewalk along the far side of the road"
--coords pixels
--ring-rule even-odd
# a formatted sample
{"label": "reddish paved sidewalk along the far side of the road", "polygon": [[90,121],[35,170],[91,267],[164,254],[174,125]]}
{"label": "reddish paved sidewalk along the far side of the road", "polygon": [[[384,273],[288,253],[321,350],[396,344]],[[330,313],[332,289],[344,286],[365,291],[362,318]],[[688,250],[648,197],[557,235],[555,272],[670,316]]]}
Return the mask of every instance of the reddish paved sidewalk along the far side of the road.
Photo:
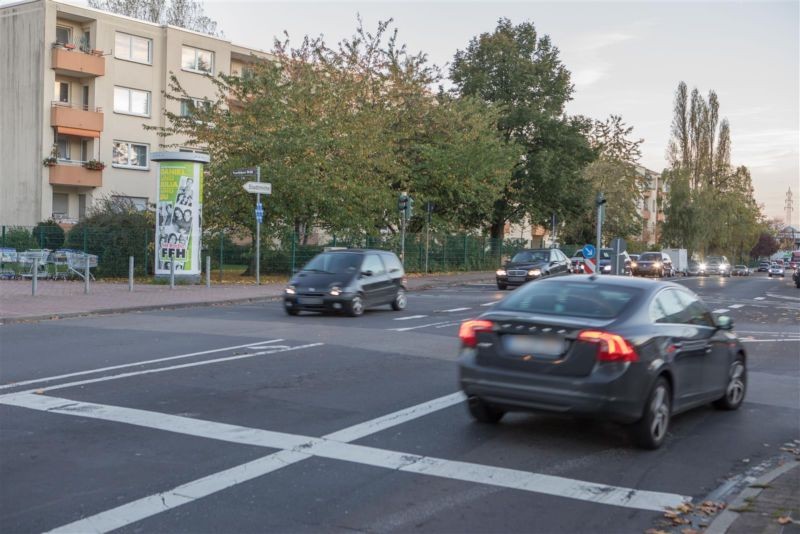
{"label": "reddish paved sidewalk along the far side of the road", "polygon": [[[467,282],[494,282],[494,273],[467,272],[414,276],[408,288],[419,291],[431,287]],[[137,284],[128,291],[127,283],[91,284],[84,294],[82,281],[40,280],[36,296],[30,280],[0,281],[0,324],[75,317],[90,314],[124,313],[155,309],[213,306],[275,299],[283,294],[285,283],[256,285],[212,284],[176,286]]]}

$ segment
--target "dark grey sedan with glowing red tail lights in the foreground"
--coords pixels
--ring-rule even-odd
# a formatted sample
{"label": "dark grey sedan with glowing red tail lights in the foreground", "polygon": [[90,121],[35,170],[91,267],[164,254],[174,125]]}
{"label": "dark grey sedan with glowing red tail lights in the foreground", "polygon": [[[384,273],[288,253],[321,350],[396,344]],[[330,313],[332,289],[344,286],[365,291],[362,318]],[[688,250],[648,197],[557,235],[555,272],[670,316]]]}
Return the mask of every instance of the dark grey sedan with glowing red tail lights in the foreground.
{"label": "dark grey sedan with glowing red tail lights in the foreground", "polygon": [[654,449],[672,415],[741,405],[746,354],[732,327],[678,284],[543,280],[461,325],[461,388],[481,422],[509,411],[588,415],[629,424]]}

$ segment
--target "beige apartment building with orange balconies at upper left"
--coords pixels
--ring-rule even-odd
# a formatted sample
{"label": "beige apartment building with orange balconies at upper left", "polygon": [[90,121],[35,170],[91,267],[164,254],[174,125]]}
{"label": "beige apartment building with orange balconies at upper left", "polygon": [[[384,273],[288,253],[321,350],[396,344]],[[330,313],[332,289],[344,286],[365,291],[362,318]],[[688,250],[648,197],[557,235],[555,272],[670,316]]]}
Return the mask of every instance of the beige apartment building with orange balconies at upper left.
{"label": "beige apartment building with orange balconies at upper left", "polygon": [[[81,219],[101,197],[142,209],[156,197],[151,152],[166,141],[171,74],[195,103],[208,74],[268,54],[205,34],[53,0],[0,6],[0,224]],[[181,150],[194,150],[181,147]]]}

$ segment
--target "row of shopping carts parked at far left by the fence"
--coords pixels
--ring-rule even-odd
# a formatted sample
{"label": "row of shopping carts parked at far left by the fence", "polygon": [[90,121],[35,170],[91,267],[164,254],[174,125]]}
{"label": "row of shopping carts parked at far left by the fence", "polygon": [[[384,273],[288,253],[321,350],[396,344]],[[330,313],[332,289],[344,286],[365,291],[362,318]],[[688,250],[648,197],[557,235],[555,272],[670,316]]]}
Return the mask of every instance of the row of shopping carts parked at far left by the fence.
{"label": "row of shopping carts parked at far left by the fence", "polygon": [[94,280],[91,269],[97,267],[97,256],[72,249],[34,249],[17,252],[13,248],[0,248],[0,279],[19,280],[37,278],[69,280],[86,276]]}

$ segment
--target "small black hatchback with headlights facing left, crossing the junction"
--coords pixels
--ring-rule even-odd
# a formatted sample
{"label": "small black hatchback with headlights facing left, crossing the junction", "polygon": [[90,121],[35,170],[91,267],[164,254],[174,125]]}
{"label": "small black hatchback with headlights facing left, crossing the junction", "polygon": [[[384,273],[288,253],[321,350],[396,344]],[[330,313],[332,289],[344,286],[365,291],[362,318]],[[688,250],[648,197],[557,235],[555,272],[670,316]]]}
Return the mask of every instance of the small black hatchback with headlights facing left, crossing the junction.
{"label": "small black hatchback with headlights facing left, crossing the junction", "polygon": [[372,306],[406,307],[403,264],[385,250],[335,250],[314,256],[292,277],[283,294],[286,313],[345,312],[352,317]]}

